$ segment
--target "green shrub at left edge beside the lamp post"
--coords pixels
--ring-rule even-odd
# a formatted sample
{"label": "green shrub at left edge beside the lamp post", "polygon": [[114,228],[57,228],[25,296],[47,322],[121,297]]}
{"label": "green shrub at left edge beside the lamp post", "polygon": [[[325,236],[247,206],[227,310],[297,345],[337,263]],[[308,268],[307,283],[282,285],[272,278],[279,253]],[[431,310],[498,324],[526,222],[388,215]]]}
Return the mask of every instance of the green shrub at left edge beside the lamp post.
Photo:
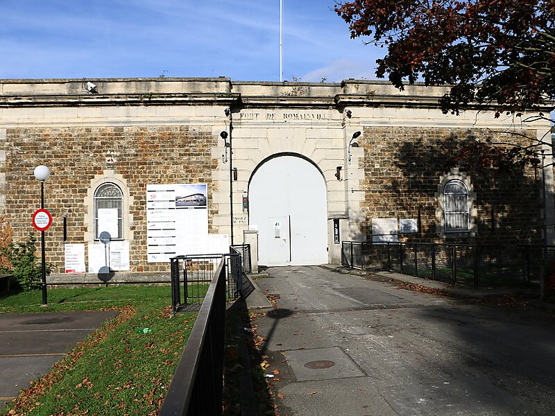
{"label": "green shrub at left edge beside the lamp post", "polygon": [[[0,247],[0,253],[8,259],[9,266],[0,266],[0,272],[13,275],[16,286],[24,291],[40,288],[42,283],[42,269],[35,252],[37,240],[31,234],[26,241],[10,243],[7,247]],[[50,274],[50,266],[46,263],[46,275]]]}

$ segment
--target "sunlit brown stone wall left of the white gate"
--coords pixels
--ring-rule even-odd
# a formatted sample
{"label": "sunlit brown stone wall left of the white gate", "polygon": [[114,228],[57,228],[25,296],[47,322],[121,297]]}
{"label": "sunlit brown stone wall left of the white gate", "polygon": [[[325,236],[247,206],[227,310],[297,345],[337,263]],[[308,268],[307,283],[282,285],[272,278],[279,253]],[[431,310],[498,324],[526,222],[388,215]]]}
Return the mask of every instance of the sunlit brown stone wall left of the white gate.
{"label": "sunlit brown stone wall left of the white gate", "polygon": [[[133,200],[132,206],[124,206],[124,211],[128,210],[130,272],[167,271],[165,263],[146,263],[146,184],[207,183],[209,230],[217,232],[212,225],[217,214],[212,203],[216,191],[212,171],[218,164],[212,147],[216,142],[212,126],[8,128],[3,141],[3,173],[14,240],[25,239],[29,233],[40,240],[31,225],[33,211],[40,206],[40,184],[33,169],[47,164],[52,175],[45,182],[44,200],[53,225],[46,232],[46,257],[53,263],[54,273],[64,272],[64,243],[92,242],[87,241],[92,232],[86,220],[92,210],[87,193],[95,178],[110,171],[121,178]],[[35,204],[30,203],[33,201]],[[63,240],[64,217],[67,241]]]}

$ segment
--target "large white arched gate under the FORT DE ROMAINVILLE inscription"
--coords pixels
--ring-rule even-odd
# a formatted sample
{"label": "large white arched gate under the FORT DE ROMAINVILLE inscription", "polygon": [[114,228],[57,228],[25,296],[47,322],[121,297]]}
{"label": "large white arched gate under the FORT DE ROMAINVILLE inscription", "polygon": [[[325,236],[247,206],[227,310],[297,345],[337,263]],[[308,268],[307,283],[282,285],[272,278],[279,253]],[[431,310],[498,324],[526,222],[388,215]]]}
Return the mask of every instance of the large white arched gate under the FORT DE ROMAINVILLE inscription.
{"label": "large white arched gate under the FORT DE ROMAINVILLE inscription", "polygon": [[326,189],[316,166],[296,156],[269,159],[250,181],[248,199],[259,264],[327,263]]}

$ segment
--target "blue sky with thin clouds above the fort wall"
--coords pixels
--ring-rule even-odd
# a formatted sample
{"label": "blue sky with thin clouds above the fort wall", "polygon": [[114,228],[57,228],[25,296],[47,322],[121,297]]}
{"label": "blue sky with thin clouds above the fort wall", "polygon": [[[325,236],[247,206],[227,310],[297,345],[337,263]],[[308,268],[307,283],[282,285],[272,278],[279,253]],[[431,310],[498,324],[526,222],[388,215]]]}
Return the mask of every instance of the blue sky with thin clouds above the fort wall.
{"label": "blue sky with thin clouds above the fort wall", "polygon": [[[283,0],[284,79],[374,79],[334,0]],[[0,78],[280,78],[279,0],[0,0]]]}

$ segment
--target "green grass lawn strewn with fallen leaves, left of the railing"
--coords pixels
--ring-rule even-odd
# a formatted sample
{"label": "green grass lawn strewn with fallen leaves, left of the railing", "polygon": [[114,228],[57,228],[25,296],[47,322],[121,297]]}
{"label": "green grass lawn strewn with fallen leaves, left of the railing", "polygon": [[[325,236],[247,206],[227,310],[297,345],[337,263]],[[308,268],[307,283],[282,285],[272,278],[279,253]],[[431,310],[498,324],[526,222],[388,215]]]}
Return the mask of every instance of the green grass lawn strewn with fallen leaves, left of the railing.
{"label": "green grass lawn strewn with fallen leaves, left of the railing", "polygon": [[[105,322],[20,393],[10,415],[155,415],[196,318],[170,318],[169,286],[49,289],[0,297],[0,313],[117,309]],[[150,328],[149,333],[137,329]]]}

